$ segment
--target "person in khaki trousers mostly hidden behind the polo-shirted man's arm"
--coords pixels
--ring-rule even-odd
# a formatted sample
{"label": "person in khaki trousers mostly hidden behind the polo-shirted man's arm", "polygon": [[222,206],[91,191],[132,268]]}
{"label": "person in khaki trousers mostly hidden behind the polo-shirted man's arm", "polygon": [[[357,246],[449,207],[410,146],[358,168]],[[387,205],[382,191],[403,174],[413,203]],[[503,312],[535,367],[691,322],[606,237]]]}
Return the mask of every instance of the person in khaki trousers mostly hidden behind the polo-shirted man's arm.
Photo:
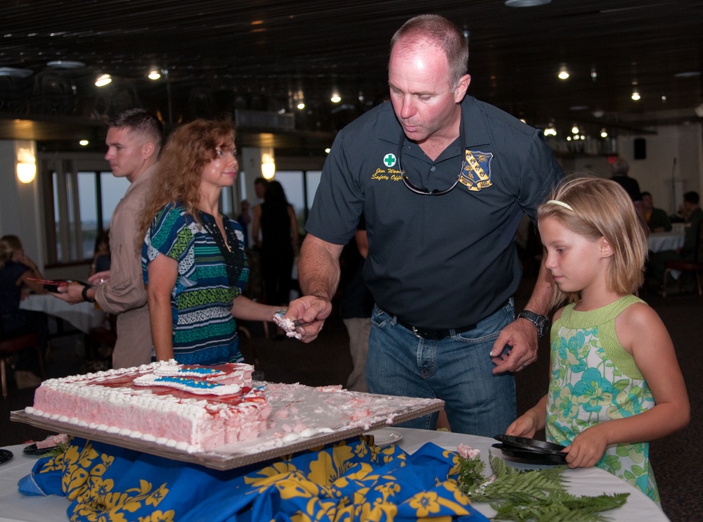
{"label": "person in khaki trousers mostly hidden behind the polo-shirted man's arm", "polygon": [[363,282],[363,261],[367,254],[366,224],[361,217],[354,239],[344,247],[340,257],[340,315],[349,334],[349,353],[352,355],[352,373],[347,378],[347,389],[360,392],[368,392],[366,354],[373,311],[373,295]]}

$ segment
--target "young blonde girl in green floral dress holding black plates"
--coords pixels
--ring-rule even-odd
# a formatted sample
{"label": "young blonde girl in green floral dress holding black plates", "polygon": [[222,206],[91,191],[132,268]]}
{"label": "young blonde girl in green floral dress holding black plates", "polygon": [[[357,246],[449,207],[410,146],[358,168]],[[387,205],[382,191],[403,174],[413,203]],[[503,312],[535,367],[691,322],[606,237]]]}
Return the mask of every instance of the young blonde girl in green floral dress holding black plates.
{"label": "young blonde girl in green floral dress holding black plates", "polygon": [[615,182],[572,177],[538,209],[555,282],[549,390],[508,435],[561,444],[569,468],[598,466],[659,502],[647,441],[684,428],[690,407],[662,320],[633,293],[645,232]]}

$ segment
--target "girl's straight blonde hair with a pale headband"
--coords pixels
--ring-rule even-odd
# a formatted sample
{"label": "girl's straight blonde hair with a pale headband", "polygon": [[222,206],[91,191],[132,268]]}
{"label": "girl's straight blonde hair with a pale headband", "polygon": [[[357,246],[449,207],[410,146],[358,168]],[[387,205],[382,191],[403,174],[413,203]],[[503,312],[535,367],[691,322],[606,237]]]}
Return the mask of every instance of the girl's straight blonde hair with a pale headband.
{"label": "girl's straight blonde hair with a pale headband", "polygon": [[[574,234],[604,237],[613,255],[606,284],[620,295],[635,293],[644,281],[647,238],[630,196],[616,182],[583,174],[564,179],[537,209],[537,220],[552,217]],[[554,286],[553,305],[576,295]]]}

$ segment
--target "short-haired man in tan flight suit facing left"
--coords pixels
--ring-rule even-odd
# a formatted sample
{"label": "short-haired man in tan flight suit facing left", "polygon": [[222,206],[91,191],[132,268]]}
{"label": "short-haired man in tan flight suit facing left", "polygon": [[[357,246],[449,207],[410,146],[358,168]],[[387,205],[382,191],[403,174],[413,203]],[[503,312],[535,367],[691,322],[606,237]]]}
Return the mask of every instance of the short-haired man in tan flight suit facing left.
{"label": "short-haired man in tan flight suit facing left", "polygon": [[117,342],[112,368],[129,368],[151,361],[151,328],[146,288],[141,276],[138,216],[152,187],[163,128],[143,109],[129,109],[108,122],[105,160],[112,175],[124,177],[129,188],[110,219],[110,270],[88,278],[90,286],[59,288],[56,297],[68,303],[96,302],[117,316]]}

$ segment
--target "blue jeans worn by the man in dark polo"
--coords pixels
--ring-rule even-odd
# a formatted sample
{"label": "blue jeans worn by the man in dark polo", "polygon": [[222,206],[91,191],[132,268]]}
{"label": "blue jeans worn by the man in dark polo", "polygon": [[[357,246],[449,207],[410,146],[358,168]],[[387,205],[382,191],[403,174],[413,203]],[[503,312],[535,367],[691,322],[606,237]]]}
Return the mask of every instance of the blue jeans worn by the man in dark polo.
{"label": "blue jeans worn by the man in dark polo", "polygon": [[[441,340],[418,338],[375,307],[371,314],[366,381],[371,393],[439,398],[451,431],[493,437],[515,420],[515,378],[491,373],[489,352],[501,329],[515,320],[512,298],[475,329]],[[434,429],[437,413],[407,421]]]}

